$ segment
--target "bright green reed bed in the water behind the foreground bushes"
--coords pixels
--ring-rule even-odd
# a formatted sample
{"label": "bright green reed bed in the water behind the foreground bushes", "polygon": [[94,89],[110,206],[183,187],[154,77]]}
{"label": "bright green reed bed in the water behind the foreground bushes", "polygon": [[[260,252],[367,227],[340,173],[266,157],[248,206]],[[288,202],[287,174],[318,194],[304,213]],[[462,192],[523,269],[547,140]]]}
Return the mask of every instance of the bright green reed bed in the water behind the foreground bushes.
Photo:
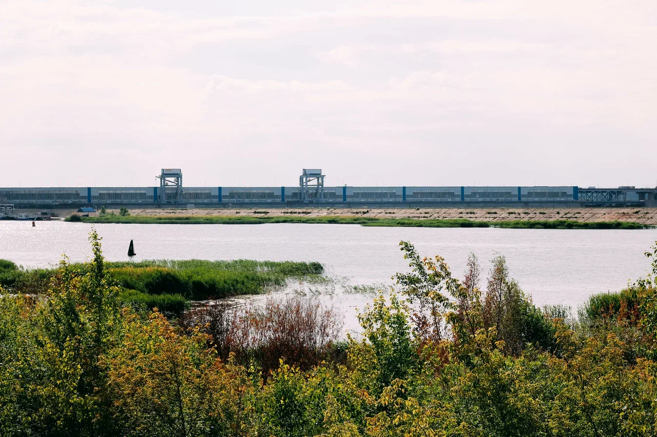
{"label": "bright green reed bed in the water behind the foreground bushes", "polygon": [[[81,272],[85,264],[70,264]],[[285,285],[288,278],[319,280],[324,271],[319,262],[254,260],[145,260],[105,262],[110,278],[120,287],[122,301],[182,314],[189,301],[262,293],[266,287]],[[0,285],[40,295],[57,269],[18,268],[0,260]]]}

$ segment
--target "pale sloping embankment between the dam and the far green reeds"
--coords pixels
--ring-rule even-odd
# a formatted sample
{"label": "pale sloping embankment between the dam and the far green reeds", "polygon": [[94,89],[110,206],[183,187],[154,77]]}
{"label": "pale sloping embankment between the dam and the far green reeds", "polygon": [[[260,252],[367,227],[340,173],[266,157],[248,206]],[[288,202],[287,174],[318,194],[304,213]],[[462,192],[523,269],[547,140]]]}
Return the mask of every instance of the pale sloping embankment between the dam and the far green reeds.
{"label": "pale sloping embankment between the dam and the far green reeds", "polygon": [[[118,209],[114,210],[118,214]],[[110,210],[108,210],[110,213]],[[374,217],[444,220],[466,218],[481,222],[575,220],[578,222],[635,222],[657,225],[657,208],[241,208],[130,209],[131,215],[158,217]],[[91,216],[97,215],[91,214]]]}

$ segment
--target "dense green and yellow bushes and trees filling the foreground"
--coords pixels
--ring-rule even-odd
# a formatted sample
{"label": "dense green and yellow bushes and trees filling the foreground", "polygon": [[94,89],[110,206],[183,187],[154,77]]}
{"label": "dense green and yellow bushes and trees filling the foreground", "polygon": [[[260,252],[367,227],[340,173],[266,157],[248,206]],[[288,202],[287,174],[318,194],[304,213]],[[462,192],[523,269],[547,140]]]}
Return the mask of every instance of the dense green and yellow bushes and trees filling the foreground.
{"label": "dense green and yellow bushes and trees filling the foreground", "polygon": [[311,298],[135,311],[91,243],[47,299],[0,287],[2,437],[657,435],[657,245],[646,278],[576,320],[537,308],[502,256],[484,279],[470,255],[459,280],[402,241],[398,294],[338,341]]}

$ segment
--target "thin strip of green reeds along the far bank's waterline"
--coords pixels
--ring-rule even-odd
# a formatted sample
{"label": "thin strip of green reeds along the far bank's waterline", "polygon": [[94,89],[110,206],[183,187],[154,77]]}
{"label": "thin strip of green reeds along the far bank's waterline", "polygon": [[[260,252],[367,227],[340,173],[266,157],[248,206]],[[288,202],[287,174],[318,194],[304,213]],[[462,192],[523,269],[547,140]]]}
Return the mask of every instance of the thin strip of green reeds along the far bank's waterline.
{"label": "thin strip of green reeds along the far bank's waterline", "polygon": [[[67,218],[68,220],[68,218]],[[77,221],[77,220],[68,220]],[[229,217],[229,216],[145,216],[104,215],[101,217],[82,217],[87,223],[139,223],[139,224],[264,224],[264,223],[320,223],[320,224],[360,224],[362,226],[406,226],[417,228],[511,228],[511,229],[649,229],[654,226],[637,222],[578,222],[576,220],[509,220],[482,222],[467,218],[445,218],[443,220],[417,218],[378,218],[378,217]]]}

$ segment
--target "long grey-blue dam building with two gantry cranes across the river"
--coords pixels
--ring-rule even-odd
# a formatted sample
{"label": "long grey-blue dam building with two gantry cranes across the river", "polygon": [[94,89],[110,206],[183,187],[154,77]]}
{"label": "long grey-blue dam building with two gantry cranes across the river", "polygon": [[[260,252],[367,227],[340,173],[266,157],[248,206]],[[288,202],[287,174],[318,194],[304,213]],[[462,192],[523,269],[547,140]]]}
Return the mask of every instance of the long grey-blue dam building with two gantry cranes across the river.
{"label": "long grey-blue dam building with two gantry cranes across the river", "polygon": [[657,207],[657,188],[578,186],[325,186],[321,169],[304,169],[298,186],[183,186],[181,169],[162,169],[159,186],[0,188],[16,208],[101,205],[158,207]]}

